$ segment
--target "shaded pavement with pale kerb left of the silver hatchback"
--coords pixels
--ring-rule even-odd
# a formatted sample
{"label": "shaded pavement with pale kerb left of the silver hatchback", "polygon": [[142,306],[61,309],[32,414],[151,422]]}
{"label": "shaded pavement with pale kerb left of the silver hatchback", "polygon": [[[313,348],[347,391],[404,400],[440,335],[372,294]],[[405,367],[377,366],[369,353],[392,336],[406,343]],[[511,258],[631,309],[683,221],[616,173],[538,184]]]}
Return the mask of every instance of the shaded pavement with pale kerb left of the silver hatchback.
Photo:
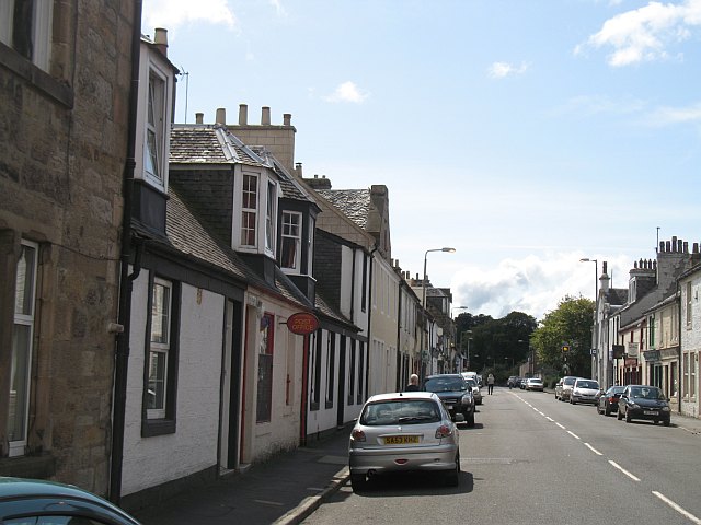
{"label": "shaded pavement with pale kerb left of the silver hatchback", "polygon": [[143,525],[291,525],[348,479],[349,428],[133,514]]}

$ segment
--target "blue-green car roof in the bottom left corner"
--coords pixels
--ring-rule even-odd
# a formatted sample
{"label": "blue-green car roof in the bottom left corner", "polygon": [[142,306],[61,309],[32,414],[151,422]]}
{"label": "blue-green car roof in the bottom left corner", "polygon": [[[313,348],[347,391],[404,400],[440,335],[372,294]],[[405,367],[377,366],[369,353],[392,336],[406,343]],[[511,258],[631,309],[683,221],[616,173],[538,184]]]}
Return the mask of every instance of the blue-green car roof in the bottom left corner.
{"label": "blue-green car roof in the bottom left corner", "polygon": [[0,523],[139,525],[118,506],[78,487],[5,477],[0,477]]}

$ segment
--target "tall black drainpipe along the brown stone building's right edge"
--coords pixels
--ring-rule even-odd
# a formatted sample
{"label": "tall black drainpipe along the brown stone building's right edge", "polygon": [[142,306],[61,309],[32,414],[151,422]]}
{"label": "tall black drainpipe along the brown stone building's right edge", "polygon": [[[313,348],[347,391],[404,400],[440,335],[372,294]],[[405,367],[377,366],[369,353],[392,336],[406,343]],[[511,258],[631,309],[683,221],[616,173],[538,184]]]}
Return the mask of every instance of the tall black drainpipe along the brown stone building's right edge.
{"label": "tall black drainpipe along the brown stone building's right edge", "polygon": [[123,192],[124,212],[122,215],[122,256],[119,268],[119,312],[117,323],[123,327],[116,336],[114,401],[112,413],[112,456],[110,463],[110,500],[119,504],[122,499],[122,467],[124,460],[124,429],[127,397],[127,371],[129,365],[129,332],[131,316],[133,282],[140,271],[140,245],[134,272],[129,275],[131,256],[131,199],[134,172],[136,167],[136,122],[139,97],[139,56],[141,52],[141,10],[142,1],[134,2],[134,27],[131,32],[131,86],[129,90],[129,125],[127,135],[127,155],[124,166]]}

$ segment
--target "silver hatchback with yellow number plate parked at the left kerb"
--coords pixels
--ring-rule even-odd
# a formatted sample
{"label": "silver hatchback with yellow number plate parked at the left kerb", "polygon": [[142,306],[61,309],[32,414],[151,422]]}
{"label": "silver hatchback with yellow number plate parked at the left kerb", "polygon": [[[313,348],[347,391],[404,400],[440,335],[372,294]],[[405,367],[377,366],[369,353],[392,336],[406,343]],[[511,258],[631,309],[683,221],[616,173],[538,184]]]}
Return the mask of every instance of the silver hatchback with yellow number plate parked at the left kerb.
{"label": "silver hatchback with yellow number plate parked at the left kerb", "polygon": [[[462,413],[456,417],[460,422]],[[350,433],[350,485],[388,472],[438,471],[446,483],[460,477],[460,435],[437,394],[404,392],[370,397]]]}

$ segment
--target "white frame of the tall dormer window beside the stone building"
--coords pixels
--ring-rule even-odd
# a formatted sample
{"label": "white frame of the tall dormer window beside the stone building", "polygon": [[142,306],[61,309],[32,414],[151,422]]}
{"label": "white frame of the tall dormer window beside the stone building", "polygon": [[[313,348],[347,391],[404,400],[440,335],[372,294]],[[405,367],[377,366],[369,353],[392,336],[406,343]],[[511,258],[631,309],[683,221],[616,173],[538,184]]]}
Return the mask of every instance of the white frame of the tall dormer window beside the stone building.
{"label": "white frame of the tall dormer window beside the stone building", "polygon": [[[169,77],[153,62],[149,61],[148,84],[146,88],[146,115],[143,116],[143,179],[160,189],[165,188],[165,172],[168,171],[168,90]],[[154,88],[158,88],[156,90]],[[153,110],[154,121],[150,121]],[[147,166],[151,162],[151,148],[149,137],[154,137],[153,149],[156,154],[154,172]]]}

